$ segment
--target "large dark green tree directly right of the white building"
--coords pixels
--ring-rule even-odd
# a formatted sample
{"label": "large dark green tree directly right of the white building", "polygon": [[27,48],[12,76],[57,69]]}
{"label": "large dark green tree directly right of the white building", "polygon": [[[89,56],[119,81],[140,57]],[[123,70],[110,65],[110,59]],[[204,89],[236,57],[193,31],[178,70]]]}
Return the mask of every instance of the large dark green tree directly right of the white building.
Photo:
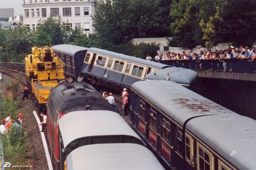
{"label": "large dark green tree directly right of the white building", "polygon": [[93,17],[101,46],[110,50],[113,45],[123,45],[132,38],[170,35],[166,15],[169,3],[169,0],[102,1]]}

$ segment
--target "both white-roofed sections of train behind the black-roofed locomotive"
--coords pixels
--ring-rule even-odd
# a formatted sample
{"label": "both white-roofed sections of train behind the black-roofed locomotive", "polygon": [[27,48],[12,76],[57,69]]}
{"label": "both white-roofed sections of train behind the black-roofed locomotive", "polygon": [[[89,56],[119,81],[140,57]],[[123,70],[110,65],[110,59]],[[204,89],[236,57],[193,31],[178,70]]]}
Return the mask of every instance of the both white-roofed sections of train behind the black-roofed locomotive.
{"label": "both white-roofed sections of train behind the black-roofed locomotive", "polygon": [[59,141],[61,170],[164,169],[140,137],[113,111],[75,111],[64,115],[59,120]]}

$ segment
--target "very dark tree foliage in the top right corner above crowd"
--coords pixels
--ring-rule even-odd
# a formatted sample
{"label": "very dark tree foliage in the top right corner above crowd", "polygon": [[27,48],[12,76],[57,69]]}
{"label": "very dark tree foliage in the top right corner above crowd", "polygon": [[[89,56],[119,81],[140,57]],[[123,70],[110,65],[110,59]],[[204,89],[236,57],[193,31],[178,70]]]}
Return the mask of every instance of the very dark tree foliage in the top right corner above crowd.
{"label": "very dark tree foliage in the top right corner above crowd", "polygon": [[256,1],[227,0],[219,37],[223,42],[252,45],[256,39]]}

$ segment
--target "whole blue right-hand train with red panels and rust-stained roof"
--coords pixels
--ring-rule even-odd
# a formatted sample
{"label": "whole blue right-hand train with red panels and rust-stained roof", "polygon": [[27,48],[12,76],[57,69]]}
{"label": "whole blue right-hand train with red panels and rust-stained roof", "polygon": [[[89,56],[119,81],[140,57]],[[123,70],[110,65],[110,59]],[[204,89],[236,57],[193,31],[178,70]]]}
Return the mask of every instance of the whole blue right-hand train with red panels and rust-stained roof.
{"label": "whole blue right-hand train with red panels and rust-stained roof", "polygon": [[256,122],[170,81],[131,86],[130,122],[167,169],[256,169]]}

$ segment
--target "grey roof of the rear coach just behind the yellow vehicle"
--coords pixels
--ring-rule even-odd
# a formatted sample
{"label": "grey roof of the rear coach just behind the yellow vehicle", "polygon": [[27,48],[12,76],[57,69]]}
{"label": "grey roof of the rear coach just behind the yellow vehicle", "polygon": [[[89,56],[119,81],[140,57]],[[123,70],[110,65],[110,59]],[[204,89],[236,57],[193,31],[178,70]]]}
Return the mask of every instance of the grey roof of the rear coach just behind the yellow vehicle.
{"label": "grey roof of the rear coach just behind the yellow vehicle", "polygon": [[54,51],[66,53],[71,56],[74,56],[76,52],[88,50],[88,48],[86,48],[86,47],[71,45],[71,44],[54,45],[54,46],[52,46],[52,49]]}

